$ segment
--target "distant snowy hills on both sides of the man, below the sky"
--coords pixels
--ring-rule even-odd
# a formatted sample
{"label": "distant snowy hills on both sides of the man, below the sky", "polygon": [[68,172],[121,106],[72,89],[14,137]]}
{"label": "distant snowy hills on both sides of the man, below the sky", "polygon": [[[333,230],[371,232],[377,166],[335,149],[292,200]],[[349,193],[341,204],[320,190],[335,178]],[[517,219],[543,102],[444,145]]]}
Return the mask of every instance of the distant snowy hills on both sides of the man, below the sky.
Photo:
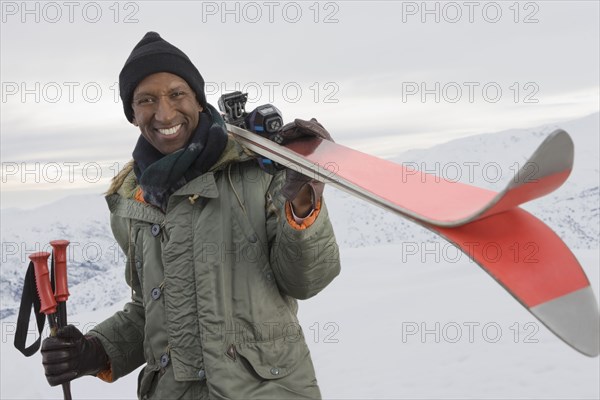
{"label": "distant snowy hills on both sides of the man, below the sky", "polygon": [[[561,124],[575,142],[575,168],[554,193],[525,205],[547,222],[571,248],[597,249],[599,215],[599,115]],[[452,180],[500,190],[555,126],[510,130],[454,140],[427,150],[399,154],[394,161],[438,173]],[[341,248],[398,244],[414,252],[445,242],[399,216],[327,187],[328,208]],[[67,197],[34,210],[2,210],[0,318],[18,310],[27,256],[48,250],[48,242],[63,238],[69,246],[69,308],[73,313],[121,302],[128,288],[123,279],[123,255],[110,232],[101,195]],[[430,244],[425,244],[430,243]]]}

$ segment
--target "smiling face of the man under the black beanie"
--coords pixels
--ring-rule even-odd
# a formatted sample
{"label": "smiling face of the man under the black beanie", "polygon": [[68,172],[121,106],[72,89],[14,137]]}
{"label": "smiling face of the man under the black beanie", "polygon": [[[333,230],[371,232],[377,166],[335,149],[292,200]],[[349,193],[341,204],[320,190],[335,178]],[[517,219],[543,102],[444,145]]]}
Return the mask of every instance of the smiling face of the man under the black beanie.
{"label": "smiling face of the man under the black beanie", "polygon": [[187,82],[168,72],[144,78],[133,91],[132,107],[133,124],[163,154],[187,145],[202,111]]}

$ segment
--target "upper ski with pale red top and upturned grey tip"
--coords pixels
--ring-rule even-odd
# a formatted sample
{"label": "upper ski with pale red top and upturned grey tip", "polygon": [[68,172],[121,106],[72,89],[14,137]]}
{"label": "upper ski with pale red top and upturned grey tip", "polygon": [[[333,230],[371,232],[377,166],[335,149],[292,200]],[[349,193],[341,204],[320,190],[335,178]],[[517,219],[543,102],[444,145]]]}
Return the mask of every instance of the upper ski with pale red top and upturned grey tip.
{"label": "upper ski with pale red top and upturned grey tip", "polygon": [[573,141],[563,130],[550,134],[506,188],[496,193],[407,168],[320,139],[287,146],[228,125],[248,149],[376,205],[428,224],[464,225],[544,196],[562,185],[573,168]]}

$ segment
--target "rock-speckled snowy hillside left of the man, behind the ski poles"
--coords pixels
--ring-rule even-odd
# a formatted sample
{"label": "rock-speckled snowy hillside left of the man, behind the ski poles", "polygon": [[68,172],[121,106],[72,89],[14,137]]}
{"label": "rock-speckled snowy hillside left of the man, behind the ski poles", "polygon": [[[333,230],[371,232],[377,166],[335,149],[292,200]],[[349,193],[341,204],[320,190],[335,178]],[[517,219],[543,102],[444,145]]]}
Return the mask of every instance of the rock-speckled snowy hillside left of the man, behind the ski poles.
{"label": "rock-speckled snowy hillside left of the man, behind the ski poles", "polygon": [[104,198],[72,196],[34,210],[2,211],[0,318],[16,318],[28,255],[52,251],[48,242],[54,239],[71,242],[67,263],[72,312],[110,306],[127,293],[124,257],[110,231]]}

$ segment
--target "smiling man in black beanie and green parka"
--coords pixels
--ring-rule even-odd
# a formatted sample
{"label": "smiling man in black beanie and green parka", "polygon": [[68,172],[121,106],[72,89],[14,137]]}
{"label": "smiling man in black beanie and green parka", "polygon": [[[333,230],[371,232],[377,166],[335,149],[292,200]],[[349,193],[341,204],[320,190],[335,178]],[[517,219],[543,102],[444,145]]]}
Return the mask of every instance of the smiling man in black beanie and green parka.
{"label": "smiling man in black beanie and green parka", "polygon": [[[141,132],[107,194],[132,299],[84,336],[42,345],[46,377],[108,382],[143,363],[138,397],[317,398],[296,299],[340,271],[323,185],[270,175],[228,136],[188,57],[148,32],[119,75]],[[331,139],[316,120],[280,135]]]}

